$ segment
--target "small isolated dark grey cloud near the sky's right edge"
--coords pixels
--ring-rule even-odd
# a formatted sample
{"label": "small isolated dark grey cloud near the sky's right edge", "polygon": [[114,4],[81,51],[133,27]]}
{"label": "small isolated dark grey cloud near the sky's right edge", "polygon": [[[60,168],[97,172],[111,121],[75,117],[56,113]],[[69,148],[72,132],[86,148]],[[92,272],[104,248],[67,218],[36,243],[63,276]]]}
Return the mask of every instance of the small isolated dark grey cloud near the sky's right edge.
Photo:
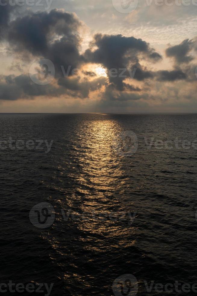
{"label": "small isolated dark grey cloud near the sky's right edge", "polygon": [[182,43],[169,47],[166,50],[167,57],[174,57],[175,61],[180,63],[189,63],[193,60],[192,56],[189,56],[188,53],[192,50],[194,42],[192,40],[186,39]]}

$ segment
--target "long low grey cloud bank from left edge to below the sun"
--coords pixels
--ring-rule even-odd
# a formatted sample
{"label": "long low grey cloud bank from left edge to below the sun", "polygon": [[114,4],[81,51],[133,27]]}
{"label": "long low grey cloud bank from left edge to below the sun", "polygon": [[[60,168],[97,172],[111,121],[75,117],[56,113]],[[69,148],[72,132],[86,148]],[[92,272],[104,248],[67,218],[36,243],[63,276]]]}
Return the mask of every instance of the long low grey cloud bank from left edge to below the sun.
{"label": "long low grey cloud bank from left edge to below the sun", "polygon": [[33,98],[38,96],[56,97],[69,95],[77,98],[88,98],[91,91],[107,85],[105,77],[88,81],[80,81],[80,77],[58,79],[58,85],[39,85],[27,75],[9,75],[0,77],[0,100],[17,100],[19,98]]}

